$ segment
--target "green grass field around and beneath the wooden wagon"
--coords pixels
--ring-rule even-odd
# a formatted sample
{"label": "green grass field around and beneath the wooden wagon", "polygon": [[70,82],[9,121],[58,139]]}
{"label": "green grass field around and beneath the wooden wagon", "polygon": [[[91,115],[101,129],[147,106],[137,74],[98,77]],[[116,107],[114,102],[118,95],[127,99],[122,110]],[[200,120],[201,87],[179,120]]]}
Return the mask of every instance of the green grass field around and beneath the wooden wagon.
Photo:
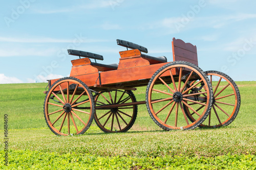
{"label": "green grass field around and beneath the wooden wagon", "polygon": [[[56,136],[46,125],[46,83],[1,84],[1,134],[8,115],[8,161],[1,169],[256,169],[256,82],[236,82],[241,108],[228,127],[163,131],[138,106],[126,133],[103,133],[93,122],[83,135]],[[145,100],[145,87],[134,92]]]}

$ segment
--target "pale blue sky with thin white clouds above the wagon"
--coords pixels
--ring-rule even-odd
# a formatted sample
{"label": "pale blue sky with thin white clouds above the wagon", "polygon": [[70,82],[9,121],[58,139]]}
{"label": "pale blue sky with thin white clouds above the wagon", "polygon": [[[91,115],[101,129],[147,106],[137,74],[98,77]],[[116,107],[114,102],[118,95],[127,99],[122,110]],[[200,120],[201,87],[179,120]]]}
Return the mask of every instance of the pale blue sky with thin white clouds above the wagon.
{"label": "pale blue sky with thin white clouds above the wagon", "polygon": [[67,49],[119,61],[116,39],[173,61],[172,38],[197,45],[199,67],[234,81],[256,81],[256,1],[3,1],[0,7],[0,83],[67,77]]}

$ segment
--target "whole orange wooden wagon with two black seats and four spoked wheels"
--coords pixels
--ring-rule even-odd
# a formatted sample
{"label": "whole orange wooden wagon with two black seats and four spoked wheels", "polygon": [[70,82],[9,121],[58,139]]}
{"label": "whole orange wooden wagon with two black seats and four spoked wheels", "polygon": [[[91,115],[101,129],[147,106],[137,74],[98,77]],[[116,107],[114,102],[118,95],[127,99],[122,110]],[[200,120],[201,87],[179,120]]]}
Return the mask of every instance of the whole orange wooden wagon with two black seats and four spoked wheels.
{"label": "whole orange wooden wagon with two black seats and four spoked wheels", "polygon": [[[53,133],[83,134],[93,119],[104,132],[126,132],[141,104],[164,130],[217,128],[236,118],[236,83],[222,72],[200,69],[196,46],[173,38],[174,61],[167,62],[132,42],[117,39],[117,44],[126,47],[118,64],[101,64],[96,62],[101,55],[68,50],[79,56],[71,61],[70,77],[48,80],[45,91],[44,115]],[[140,86],[147,86],[145,100],[137,101],[133,91]]]}

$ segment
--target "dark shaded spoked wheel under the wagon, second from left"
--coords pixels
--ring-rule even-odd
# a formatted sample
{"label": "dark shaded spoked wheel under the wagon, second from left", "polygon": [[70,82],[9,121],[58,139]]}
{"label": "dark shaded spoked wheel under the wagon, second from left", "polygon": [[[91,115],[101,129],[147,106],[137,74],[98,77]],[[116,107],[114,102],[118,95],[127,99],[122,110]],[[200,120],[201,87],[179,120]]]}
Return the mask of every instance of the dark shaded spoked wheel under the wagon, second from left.
{"label": "dark shaded spoked wheel under the wagon, second from left", "polygon": [[104,132],[126,132],[137,117],[136,98],[130,90],[100,92],[95,97],[95,122]]}

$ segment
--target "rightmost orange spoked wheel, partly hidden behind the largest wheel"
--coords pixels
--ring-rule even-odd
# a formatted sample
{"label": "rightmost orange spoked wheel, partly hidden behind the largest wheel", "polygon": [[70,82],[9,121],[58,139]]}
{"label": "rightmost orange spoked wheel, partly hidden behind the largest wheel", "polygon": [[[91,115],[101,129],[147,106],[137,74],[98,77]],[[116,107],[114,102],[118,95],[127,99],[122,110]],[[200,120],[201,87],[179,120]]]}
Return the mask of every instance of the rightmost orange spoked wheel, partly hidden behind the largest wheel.
{"label": "rightmost orange spoked wheel, partly hidden behind the largest wheel", "polygon": [[[240,109],[241,99],[238,86],[223,72],[211,70],[205,73],[212,84],[214,102],[208,118],[201,126],[209,128],[227,126],[237,117]],[[187,108],[185,111],[189,119],[194,121],[194,114]]]}

